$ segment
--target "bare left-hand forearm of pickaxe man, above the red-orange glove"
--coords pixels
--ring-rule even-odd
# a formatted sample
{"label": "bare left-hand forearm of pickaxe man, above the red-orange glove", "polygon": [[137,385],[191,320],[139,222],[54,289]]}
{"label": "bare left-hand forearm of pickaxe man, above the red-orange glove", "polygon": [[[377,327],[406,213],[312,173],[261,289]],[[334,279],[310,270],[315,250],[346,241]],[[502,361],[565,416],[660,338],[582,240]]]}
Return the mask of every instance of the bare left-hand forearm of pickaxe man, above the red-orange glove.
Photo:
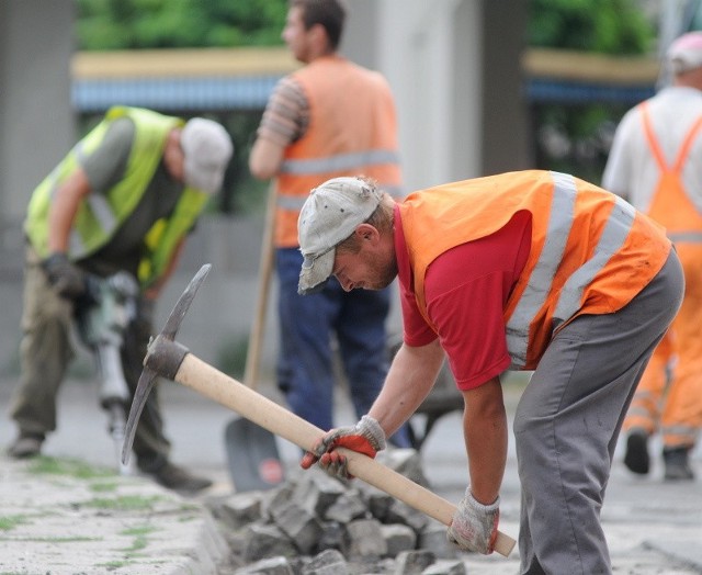
{"label": "bare left-hand forearm of pickaxe man, above the red-orange glove", "polygon": [[433,386],[444,359],[439,340],[427,346],[403,343],[369,415],[389,437],[417,410]]}

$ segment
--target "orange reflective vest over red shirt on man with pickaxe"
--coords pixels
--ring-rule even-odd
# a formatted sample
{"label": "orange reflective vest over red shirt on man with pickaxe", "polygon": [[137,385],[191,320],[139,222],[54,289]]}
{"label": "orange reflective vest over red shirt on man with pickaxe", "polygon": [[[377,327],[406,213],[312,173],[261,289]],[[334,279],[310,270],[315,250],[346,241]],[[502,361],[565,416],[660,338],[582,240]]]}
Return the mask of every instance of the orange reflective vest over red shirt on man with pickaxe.
{"label": "orange reflective vest over red shirt on man with pickaxe", "polygon": [[[661,226],[621,198],[573,176],[526,170],[416,192],[399,205],[417,305],[429,318],[424,274],[441,253],[532,215],[524,269],[505,308],[511,369],[533,370],[553,334],[580,314],[626,305],[663,268]],[[428,234],[427,230],[440,230]]]}

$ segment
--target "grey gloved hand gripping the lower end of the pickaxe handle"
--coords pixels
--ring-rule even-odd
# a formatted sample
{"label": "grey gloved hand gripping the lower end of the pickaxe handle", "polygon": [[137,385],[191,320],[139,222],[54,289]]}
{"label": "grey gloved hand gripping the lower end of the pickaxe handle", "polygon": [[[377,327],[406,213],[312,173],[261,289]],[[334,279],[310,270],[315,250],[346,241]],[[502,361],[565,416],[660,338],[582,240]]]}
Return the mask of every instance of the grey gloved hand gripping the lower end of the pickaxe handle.
{"label": "grey gloved hand gripping the lower end of the pickaxe handle", "polygon": [[473,497],[468,486],[453,515],[446,538],[463,550],[488,555],[495,546],[499,519],[500,498],[490,505],[483,505]]}

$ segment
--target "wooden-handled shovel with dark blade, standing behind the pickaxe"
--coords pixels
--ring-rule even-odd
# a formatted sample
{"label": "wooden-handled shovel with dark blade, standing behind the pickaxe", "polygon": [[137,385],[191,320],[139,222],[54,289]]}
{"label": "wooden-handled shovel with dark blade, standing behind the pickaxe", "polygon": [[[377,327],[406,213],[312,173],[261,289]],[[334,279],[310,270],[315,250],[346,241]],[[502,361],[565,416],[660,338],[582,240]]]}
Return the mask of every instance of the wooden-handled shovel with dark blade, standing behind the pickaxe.
{"label": "wooden-handled shovel with dark blade, standing behind the pickaxe", "polygon": [[[273,224],[275,218],[275,184],[271,182],[265,207],[261,244],[258,301],[249,336],[244,384],[257,388],[258,369],[268,311],[268,296],[273,270]],[[225,427],[225,448],[229,476],[239,493],[265,491],[284,480],[283,465],[275,436],[249,419],[237,417]]]}

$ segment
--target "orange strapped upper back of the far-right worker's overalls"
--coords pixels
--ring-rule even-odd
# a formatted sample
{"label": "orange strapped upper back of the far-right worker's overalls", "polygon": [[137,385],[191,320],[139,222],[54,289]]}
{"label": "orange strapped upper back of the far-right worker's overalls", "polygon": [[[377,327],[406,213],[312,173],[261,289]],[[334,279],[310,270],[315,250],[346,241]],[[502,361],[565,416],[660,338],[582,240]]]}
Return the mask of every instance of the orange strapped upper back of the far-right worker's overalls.
{"label": "orange strapped upper back of the far-right worker's overalls", "polygon": [[660,179],[656,185],[648,215],[668,230],[672,241],[702,243],[702,215],[690,200],[682,183],[682,167],[690,154],[690,147],[702,128],[700,116],[686,135],[672,165],[668,166],[650,122],[648,102],[641,104],[644,132],[648,146],[660,169]]}

